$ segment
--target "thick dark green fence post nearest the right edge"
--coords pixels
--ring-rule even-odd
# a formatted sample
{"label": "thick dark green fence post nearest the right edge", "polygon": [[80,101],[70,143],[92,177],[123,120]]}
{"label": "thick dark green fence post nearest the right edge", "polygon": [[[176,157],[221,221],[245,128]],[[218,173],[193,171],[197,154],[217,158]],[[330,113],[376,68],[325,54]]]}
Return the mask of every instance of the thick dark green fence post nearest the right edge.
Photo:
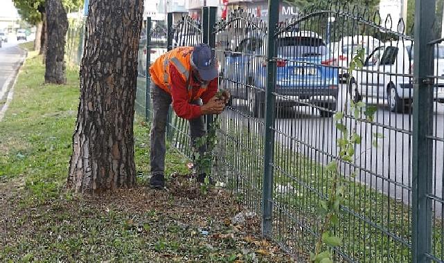
{"label": "thick dark green fence post nearest the right edge", "polygon": [[435,0],[416,1],[412,149],[412,262],[429,262],[432,247],[433,38]]}

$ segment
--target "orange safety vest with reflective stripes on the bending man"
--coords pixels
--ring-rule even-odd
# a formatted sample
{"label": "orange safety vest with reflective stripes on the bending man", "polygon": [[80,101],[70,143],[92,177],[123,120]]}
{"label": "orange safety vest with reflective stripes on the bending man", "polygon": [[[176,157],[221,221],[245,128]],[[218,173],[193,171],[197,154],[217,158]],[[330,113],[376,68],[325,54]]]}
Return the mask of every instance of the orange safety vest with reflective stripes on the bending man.
{"label": "orange safety vest with reflective stripes on the bending man", "polygon": [[177,71],[181,74],[181,78],[184,80],[188,87],[188,101],[197,100],[202,93],[206,91],[208,84],[200,87],[199,91],[193,96],[193,87],[190,85],[191,78],[191,53],[193,53],[192,46],[181,46],[174,48],[171,51],[161,55],[150,66],[151,80],[158,87],[171,94],[171,78],[170,78],[170,66],[175,66]]}

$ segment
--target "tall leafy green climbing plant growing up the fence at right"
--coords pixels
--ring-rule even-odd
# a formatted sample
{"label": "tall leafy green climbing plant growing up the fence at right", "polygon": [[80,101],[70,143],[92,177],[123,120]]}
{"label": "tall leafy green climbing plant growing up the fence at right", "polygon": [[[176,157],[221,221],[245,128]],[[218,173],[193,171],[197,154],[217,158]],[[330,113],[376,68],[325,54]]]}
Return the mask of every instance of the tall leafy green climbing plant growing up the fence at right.
{"label": "tall leafy green climbing plant growing up the fence at right", "polygon": [[[357,55],[353,57],[348,69],[350,83],[353,71],[362,69],[364,61],[365,50],[360,48]],[[349,131],[344,122],[344,111],[338,111],[334,116],[335,125],[340,132],[341,137],[337,140],[337,147],[339,149],[340,163],[353,163],[355,160],[355,146],[361,144],[362,138],[356,132],[356,127],[362,123],[362,115],[370,122],[373,121],[373,116],[376,112],[376,107],[367,106],[362,101],[354,102],[350,99],[350,112],[353,114],[354,127]],[[345,102],[344,109],[347,110],[348,102]],[[382,134],[373,134],[373,146],[378,146],[378,138],[383,138]],[[332,248],[341,246],[342,240],[334,233],[335,226],[339,225],[340,207],[344,203],[346,184],[350,183],[348,179],[342,179],[340,176],[340,165],[336,160],[331,161],[326,166],[329,174],[328,183],[331,183],[330,192],[328,192],[328,199],[319,202],[319,219],[321,220],[320,234],[314,247],[314,253],[310,255],[310,261],[315,263],[330,263],[333,262]],[[353,172],[351,177],[355,176]]]}

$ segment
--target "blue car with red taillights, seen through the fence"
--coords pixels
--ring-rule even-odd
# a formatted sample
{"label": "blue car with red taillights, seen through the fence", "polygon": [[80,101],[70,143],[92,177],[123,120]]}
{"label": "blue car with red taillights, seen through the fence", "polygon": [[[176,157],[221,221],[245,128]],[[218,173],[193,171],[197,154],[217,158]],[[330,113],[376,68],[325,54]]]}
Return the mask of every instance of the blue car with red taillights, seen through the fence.
{"label": "blue car with red taillights, seen through the fence", "polygon": [[[253,35],[227,51],[223,80],[233,98],[247,100],[253,116],[265,111],[266,63],[264,37]],[[301,31],[278,37],[276,105],[280,108],[317,105],[323,117],[337,107],[337,60],[331,57],[323,39],[316,33]]]}

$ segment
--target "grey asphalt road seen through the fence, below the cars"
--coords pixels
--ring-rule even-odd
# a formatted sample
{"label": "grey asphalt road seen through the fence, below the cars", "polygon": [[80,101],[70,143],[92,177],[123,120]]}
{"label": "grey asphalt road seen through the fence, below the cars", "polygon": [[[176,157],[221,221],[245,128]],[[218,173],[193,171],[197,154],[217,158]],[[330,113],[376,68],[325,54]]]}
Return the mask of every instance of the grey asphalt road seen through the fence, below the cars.
{"label": "grey asphalt road seen through the fence, below the cars", "polygon": [[[338,110],[344,109],[344,102],[348,101],[346,86],[341,85],[340,89]],[[239,107],[240,102],[234,103],[242,110]],[[349,129],[356,129],[357,134],[362,136],[362,143],[355,148],[355,167],[342,165],[343,174],[354,172],[355,180],[371,185],[398,201],[411,204],[411,110],[407,109],[405,114],[394,114],[382,100],[366,103],[378,106],[378,111],[373,123],[354,123],[350,118],[346,121]],[[338,155],[336,141],[341,134],[337,131],[333,118],[322,118],[317,109],[311,107],[278,110],[276,117],[276,140],[281,145],[292,147],[314,163],[327,164],[332,156]],[[444,138],[443,123],[444,105],[434,102],[434,136]],[[384,136],[378,139],[378,147],[375,147],[373,141],[376,139],[374,134],[377,133]],[[434,176],[434,195],[440,198],[443,197],[444,188],[443,146],[443,141],[434,140],[435,161],[430,166]],[[442,208],[438,204],[436,203],[434,210],[437,215],[441,215]]]}

